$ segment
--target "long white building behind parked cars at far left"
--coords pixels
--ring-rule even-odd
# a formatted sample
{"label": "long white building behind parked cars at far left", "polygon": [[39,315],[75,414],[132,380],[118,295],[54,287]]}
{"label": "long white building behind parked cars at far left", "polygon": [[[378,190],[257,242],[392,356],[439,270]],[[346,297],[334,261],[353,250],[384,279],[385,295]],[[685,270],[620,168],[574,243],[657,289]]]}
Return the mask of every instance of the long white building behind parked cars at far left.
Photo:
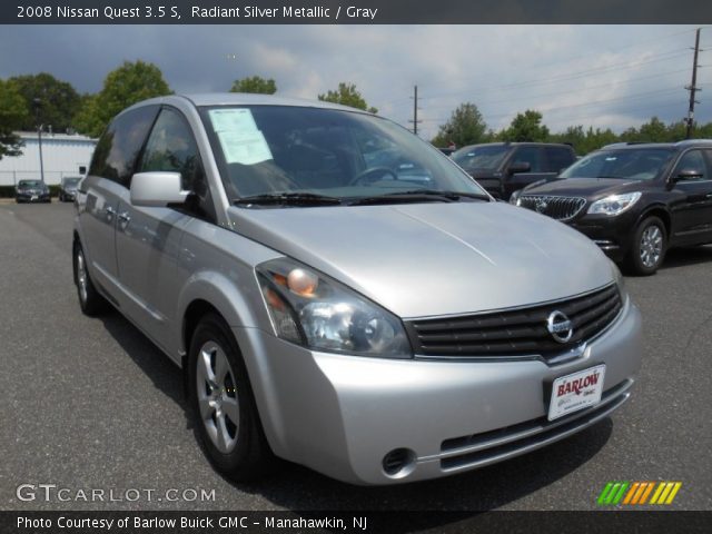
{"label": "long white building behind parked cars at far left", "polygon": [[[22,156],[0,159],[0,186],[13,186],[22,179],[40,178],[40,150],[36,131],[18,132],[24,146]],[[63,176],[82,176],[89,168],[96,139],[85,136],[42,132],[44,181],[59,184]]]}

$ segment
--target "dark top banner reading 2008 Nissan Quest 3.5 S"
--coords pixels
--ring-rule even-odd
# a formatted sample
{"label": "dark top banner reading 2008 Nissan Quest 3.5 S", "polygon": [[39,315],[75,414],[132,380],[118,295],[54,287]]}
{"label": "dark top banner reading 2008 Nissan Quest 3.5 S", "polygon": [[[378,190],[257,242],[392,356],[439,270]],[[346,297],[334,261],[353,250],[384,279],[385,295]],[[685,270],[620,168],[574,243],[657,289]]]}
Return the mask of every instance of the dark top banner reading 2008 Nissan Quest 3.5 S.
{"label": "dark top banner reading 2008 Nissan Quest 3.5 S", "polygon": [[2,24],[705,24],[701,0],[3,0]]}

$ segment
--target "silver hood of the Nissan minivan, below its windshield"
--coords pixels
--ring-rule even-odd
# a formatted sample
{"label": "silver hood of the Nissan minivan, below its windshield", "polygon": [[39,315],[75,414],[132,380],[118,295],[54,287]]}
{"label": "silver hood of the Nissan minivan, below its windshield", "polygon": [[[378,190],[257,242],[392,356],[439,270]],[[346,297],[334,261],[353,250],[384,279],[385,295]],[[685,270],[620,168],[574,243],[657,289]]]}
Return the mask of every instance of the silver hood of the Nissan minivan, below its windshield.
{"label": "silver hood of the Nissan minivan, below its windshield", "polygon": [[284,209],[231,207],[235,231],[400,317],[510,308],[613,279],[577,231],[503,202]]}

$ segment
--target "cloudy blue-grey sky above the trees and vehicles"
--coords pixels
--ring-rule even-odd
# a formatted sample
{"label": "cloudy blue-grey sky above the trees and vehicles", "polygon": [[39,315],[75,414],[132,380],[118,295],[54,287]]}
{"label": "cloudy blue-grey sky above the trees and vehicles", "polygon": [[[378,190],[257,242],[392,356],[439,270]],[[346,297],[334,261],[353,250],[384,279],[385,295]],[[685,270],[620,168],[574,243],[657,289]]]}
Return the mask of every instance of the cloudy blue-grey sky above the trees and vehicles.
{"label": "cloudy blue-grey sky above the trees and vehicles", "polygon": [[[712,27],[700,44],[695,118],[705,123]],[[257,75],[281,96],[316,99],[352,82],[408,128],[417,85],[426,139],[463,102],[494,130],[535,109],[554,132],[620,132],[686,116],[693,47],[691,26],[0,26],[0,78],[50,72],[96,92],[122,61],[141,59],[179,93],[227,91]]]}

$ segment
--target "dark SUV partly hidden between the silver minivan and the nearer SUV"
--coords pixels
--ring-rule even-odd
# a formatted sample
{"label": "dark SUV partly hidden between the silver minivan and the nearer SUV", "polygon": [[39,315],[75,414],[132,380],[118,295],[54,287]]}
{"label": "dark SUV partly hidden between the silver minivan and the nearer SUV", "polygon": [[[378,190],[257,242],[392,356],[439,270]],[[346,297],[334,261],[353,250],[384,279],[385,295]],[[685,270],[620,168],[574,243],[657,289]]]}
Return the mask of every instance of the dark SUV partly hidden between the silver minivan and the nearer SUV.
{"label": "dark SUV partly hidden between the silver minivan and the nearer SUV", "polygon": [[555,178],[576,160],[571,146],[547,142],[469,145],[451,157],[490,195],[502,200],[530,184]]}

